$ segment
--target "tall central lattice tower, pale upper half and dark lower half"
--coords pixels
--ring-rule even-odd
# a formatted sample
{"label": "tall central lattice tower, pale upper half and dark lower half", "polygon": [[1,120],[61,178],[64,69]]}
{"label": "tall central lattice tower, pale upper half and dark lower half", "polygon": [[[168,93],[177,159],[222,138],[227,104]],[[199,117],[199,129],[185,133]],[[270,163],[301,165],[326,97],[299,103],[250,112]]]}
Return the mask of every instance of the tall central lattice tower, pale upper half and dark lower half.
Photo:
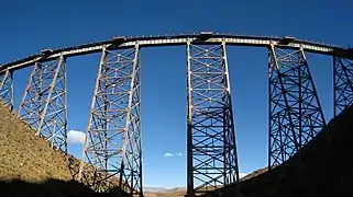
{"label": "tall central lattice tower, pale upper half and dark lower half", "polygon": [[[239,179],[225,42],[187,42],[188,196]],[[197,185],[197,186],[196,186]]]}

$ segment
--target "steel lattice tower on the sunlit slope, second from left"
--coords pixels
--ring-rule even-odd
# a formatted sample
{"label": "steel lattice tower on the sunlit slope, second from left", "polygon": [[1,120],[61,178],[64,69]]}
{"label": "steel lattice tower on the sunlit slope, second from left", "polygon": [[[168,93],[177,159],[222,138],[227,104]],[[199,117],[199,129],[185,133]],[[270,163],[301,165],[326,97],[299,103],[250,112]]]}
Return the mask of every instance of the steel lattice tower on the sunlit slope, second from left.
{"label": "steel lattice tower on the sunlit slope, second from left", "polygon": [[36,130],[36,136],[67,153],[66,61],[63,55],[55,60],[35,62],[18,113]]}

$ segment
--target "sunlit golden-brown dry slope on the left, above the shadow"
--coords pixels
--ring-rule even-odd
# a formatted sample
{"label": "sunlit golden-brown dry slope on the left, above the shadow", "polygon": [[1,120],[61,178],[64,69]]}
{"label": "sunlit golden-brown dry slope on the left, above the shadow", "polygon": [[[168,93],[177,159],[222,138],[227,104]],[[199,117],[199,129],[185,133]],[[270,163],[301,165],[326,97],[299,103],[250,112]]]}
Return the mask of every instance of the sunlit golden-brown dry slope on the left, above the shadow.
{"label": "sunlit golden-brown dry slope on the left, above the shadow", "polygon": [[71,179],[65,155],[0,104],[0,179]]}

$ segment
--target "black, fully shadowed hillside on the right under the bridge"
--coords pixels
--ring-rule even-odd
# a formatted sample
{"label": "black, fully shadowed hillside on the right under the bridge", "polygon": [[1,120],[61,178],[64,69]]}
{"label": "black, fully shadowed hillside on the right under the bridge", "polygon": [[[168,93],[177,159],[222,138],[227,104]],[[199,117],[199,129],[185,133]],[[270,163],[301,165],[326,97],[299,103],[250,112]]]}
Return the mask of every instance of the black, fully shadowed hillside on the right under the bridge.
{"label": "black, fully shadowed hillside on the right under the bridge", "polygon": [[[353,107],[333,118],[322,131],[282,165],[244,178],[245,197],[353,196]],[[255,173],[256,174],[256,173]],[[209,196],[236,196],[234,185]]]}

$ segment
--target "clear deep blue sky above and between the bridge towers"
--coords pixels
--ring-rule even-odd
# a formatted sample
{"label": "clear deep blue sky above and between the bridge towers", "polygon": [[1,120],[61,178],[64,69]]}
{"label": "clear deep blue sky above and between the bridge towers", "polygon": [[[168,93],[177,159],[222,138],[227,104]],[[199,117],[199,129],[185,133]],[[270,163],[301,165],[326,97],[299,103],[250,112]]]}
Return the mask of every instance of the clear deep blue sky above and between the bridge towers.
{"label": "clear deep blue sky above and between the bridge towers", "polygon": [[[213,31],[249,35],[294,35],[353,46],[353,1],[3,1],[0,63],[114,35],[162,35]],[[142,131],[145,186],[186,183],[186,49],[143,48]],[[228,50],[240,171],[267,162],[267,53]],[[308,55],[327,119],[332,117],[332,60]],[[99,55],[67,60],[68,128],[86,130]],[[15,106],[31,69],[15,73]],[[70,146],[79,155],[80,146]],[[165,153],[181,153],[167,157]]]}

